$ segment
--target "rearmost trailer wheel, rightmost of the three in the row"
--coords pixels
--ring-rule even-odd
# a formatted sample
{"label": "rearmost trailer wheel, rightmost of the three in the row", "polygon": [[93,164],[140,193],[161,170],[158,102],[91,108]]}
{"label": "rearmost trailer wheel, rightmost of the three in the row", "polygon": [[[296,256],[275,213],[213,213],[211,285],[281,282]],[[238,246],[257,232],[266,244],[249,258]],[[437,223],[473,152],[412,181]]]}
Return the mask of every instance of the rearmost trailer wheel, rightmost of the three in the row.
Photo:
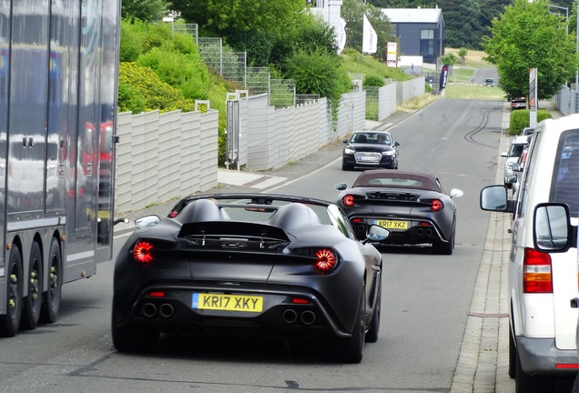
{"label": "rearmost trailer wheel, rightmost of the three in the row", "polygon": [[48,290],[45,292],[40,308],[40,320],[43,323],[55,323],[60,308],[62,296],[62,254],[55,237],[50,244],[48,253]]}

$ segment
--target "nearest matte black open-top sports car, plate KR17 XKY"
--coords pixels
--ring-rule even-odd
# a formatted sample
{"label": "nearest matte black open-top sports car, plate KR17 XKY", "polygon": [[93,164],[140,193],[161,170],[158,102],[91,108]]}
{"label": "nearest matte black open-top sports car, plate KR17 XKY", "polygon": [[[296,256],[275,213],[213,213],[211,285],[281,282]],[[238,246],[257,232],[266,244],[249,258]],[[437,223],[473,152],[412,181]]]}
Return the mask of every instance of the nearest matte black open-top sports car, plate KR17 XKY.
{"label": "nearest matte black open-top sports car, plate KR17 XKY", "polygon": [[[144,217],[115,266],[112,335],[138,351],[160,332],[330,338],[359,362],[378,339],[381,253],[334,204],[297,196],[189,196]],[[370,226],[379,241],[389,231]]]}

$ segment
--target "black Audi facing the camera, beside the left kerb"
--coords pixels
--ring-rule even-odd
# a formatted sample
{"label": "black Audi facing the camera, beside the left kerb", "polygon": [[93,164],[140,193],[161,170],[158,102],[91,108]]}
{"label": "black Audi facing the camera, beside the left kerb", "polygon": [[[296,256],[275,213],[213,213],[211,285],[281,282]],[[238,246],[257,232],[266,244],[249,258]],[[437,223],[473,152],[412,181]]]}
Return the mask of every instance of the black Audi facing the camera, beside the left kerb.
{"label": "black Audi facing the camera, beside the left kerb", "polygon": [[398,169],[398,146],[389,132],[357,131],[350,140],[343,141],[344,151],[341,168],[349,170],[354,167]]}

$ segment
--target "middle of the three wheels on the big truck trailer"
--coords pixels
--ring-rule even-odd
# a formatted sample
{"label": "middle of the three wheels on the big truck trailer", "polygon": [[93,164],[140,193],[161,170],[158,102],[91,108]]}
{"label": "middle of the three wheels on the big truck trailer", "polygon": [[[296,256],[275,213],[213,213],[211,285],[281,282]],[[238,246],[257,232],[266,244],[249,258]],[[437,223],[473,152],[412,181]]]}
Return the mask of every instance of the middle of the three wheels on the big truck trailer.
{"label": "middle of the three wheels on the big truck trailer", "polygon": [[42,253],[38,243],[33,242],[28,261],[28,295],[24,297],[22,308],[22,328],[33,330],[38,325],[43,288]]}

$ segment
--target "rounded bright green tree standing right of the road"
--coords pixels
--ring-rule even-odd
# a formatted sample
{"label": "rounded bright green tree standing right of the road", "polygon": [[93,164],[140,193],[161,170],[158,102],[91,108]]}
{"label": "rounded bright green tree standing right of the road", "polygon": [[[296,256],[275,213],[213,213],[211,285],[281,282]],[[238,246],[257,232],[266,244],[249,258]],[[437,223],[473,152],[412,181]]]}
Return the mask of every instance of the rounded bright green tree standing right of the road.
{"label": "rounded bright green tree standing right of the road", "polygon": [[548,8],[545,0],[515,0],[483,36],[485,59],[497,66],[507,99],[528,96],[530,68],[537,68],[538,99],[554,96],[574,76],[574,35]]}

